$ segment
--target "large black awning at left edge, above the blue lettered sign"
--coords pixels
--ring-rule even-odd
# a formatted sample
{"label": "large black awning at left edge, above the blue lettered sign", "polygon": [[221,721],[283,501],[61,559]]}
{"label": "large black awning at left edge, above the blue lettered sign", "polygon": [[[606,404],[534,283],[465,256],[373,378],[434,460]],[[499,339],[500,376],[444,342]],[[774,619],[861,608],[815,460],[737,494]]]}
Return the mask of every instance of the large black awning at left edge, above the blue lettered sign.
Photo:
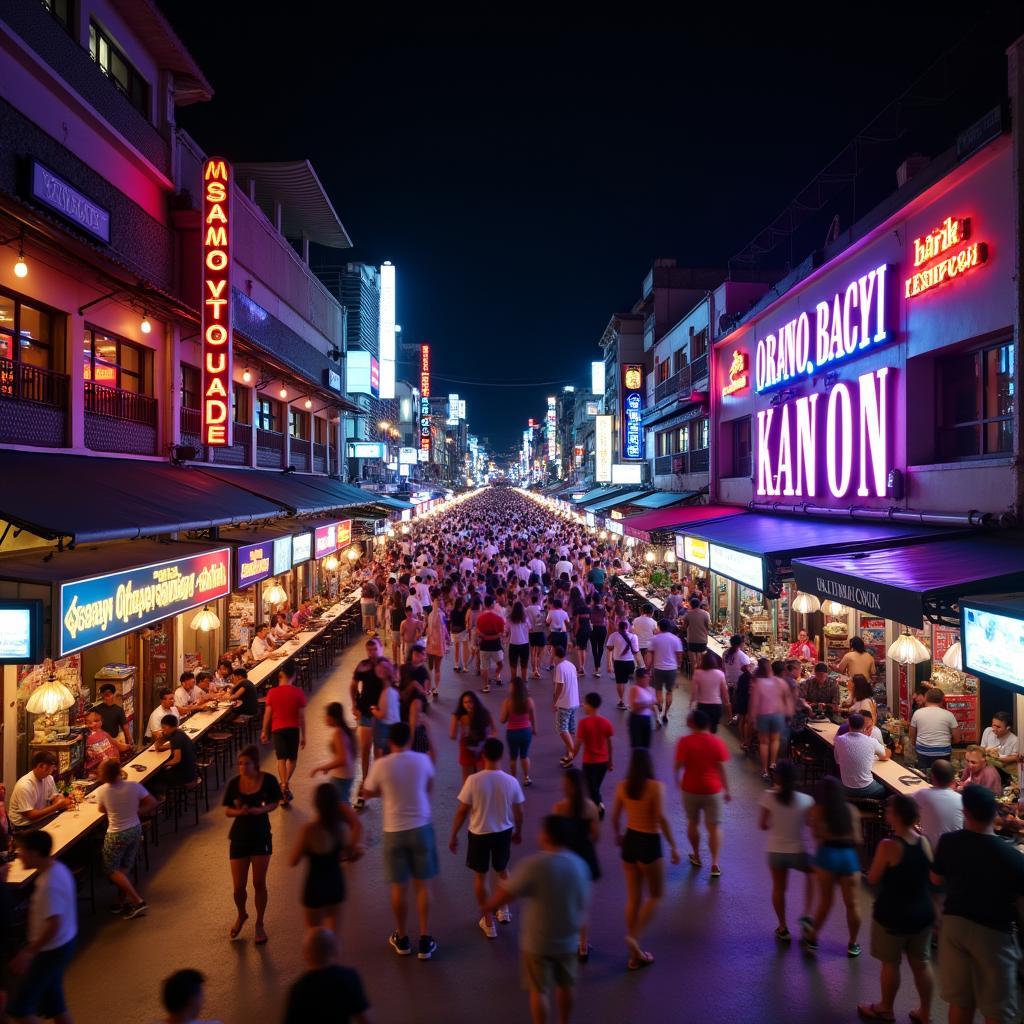
{"label": "large black awning at left edge, above the blue lettered sign", "polygon": [[0,451],[0,519],[76,544],[132,540],[272,519],[274,497],[196,466]]}

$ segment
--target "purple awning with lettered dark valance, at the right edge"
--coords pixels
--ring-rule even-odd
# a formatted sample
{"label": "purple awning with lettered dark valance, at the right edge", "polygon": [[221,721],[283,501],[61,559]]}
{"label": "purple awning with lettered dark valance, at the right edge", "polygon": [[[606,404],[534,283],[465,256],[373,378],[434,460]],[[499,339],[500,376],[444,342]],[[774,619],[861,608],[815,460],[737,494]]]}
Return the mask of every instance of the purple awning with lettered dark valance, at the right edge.
{"label": "purple awning with lettered dark valance, at the right edge", "polygon": [[793,560],[797,586],[904,626],[957,621],[967,595],[1024,590],[1024,538],[965,537]]}

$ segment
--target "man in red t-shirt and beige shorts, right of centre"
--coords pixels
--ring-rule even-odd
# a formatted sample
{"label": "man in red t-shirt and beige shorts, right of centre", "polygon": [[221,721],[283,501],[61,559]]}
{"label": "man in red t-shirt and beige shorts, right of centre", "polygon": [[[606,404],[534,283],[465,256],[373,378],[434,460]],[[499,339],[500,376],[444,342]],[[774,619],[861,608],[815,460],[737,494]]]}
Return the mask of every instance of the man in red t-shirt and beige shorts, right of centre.
{"label": "man in red t-shirt and beige shorts, right of centre", "polygon": [[722,848],[722,799],[729,795],[729,779],[725,774],[725,762],[729,752],[718,736],[713,736],[708,727],[711,720],[697,708],[690,712],[689,727],[693,730],[683,736],[676,746],[676,773],[682,770],[679,781],[683,791],[683,808],[686,811],[686,835],[692,852],[690,863],[700,866],[700,812],[703,811],[705,827],[708,829],[708,845],[711,847],[711,877],[721,878],[718,866],[718,852]]}

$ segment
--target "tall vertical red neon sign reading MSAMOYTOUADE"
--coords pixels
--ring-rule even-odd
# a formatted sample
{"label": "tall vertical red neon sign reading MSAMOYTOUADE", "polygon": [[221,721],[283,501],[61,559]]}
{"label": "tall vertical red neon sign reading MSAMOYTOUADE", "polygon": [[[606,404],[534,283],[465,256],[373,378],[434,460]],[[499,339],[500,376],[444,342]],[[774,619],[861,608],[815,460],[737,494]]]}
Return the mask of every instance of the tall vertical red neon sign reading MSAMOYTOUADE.
{"label": "tall vertical red neon sign reading MSAMOYTOUADE", "polygon": [[203,165],[203,443],[231,444],[231,168]]}

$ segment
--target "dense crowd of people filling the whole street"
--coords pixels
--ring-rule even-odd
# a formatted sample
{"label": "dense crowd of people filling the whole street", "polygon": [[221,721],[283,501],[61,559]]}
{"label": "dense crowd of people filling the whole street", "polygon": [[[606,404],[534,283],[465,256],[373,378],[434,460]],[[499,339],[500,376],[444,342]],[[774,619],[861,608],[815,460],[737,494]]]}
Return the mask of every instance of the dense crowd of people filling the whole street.
{"label": "dense crowd of people filling the whole street", "polygon": [[[652,966],[655,952],[647,936],[665,892],[666,859],[681,863],[686,852],[691,871],[701,871],[707,863],[710,884],[723,878],[722,820],[731,788],[729,751],[719,733],[730,722],[742,746],[760,761],[767,786],[756,820],[766,834],[765,878],[777,918],[775,940],[794,938],[787,883],[796,871],[805,877],[799,918],[804,950],[818,951],[838,890],[846,910],[847,954],[858,956],[859,877],[866,867],[867,883],[877,890],[870,952],[882,967],[880,996],[858,1005],[859,1015],[895,1019],[905,957],[919,997],[911,1019],[928,1024],[938,931],[939,988],[950,1021],[966,1024],[976,1009],[986,1021],[1016,1020],[1015,903],[1024,896],[1024,858],[993,834],[995,795],[985,772],[988,759],[1002,757],[1009,764],[1018,756],[1008,722],[993,722],[982,743],[969,751],[964,776],[955,778],[948,752],[936,741],[945,720],[932,714],[932,698],[926,695],[925,714],[914,716],[912,735],[919,754],[931,756],[932,785],[923,787],[916,800],[888,798],[891,836],[869,863],[862,862],[860,817],[851,800],[885,798],[870,768],[877,758],[888,757],[867,685],[873,668],[857,657],[863,652],[855,646],[851,651],[846,670],[852,697],[842,709],[823,665],[798,683],[795,667],[806,659],[807,652],[799,649],[806,636],[798,637],[798,649],[785,662],[753,656],[740,637],[732,638],[720,657],[709,648],[711,617],[699,584],[673,586],[656,616],[650,604],[632,614],[610,585],[627,567],[626,552],[614,542],[597,544],[574,521],[518,493],[483,492],[402,527],[366,567],[364,656],[345,692],[330,694],[324,712],[327,750],[301,769],[305,696],[291,685],[287,671],[280,673],[279,685],[268,694],[261,737],[272,740],[276,773],[261,769],[258,748],[244,749],[222,804],[230,820],[237,911],[228,937],[244,936],[251,877],[252,936],[263,945],[269,939],[272,816],[293,799],[297,771],[324,777],[289,855],[293,866],[304,865],[301,903],[309,972],[290,992],[286,1021],[364,1020],[369,1012],[360,979],[340,964],[338,937],[346,873],[358,870],[346,865],[365,854],[365,829],[378,827],[371,823],[376,812],[370,820],[366,816],[377,801],[392,918],[387,943],[395,955],[430,961],[439,949],[432,899],[442,858],[434,826],[445,819],[451,821],[451,854],[459,855],[465,829],[465,866],[482,935],[497,939],[511,923],[513,908],[521,906],[521,974],[535,1021],[552,1019],[552,1013],[561,1022],[571,1017],[580,967],[592,953],[592,915],[598,912],[593,888],[606,871],[599,856],[603,829],[610,828],[625,881],[623,966],[627,971]],[[283,637],[289,624],[278,625]],[[263,656],[271,652],[268,646]],[[469,683],[461,692],[442,689],[450,686],[441,673],[449,654],[456,676]],[[680,714],[676,688],[683,672],[689,680],[687,707]],[[588,677],[595,681],[590,686]],[[602,692],[605,678],[613,691]],[[225,679],[232,698],[248,696],[244,668],[227,665]],[[204,699],[202,692],[193,696],[194,688],[203,690],[198,681],[182,679],[181,693],[169,693],[169,702],[158,709],[164,711],[158,723],[161,741],[179,759],[173,767],[182,772],[188,770],[188,754],[186,744],[175,740],[182,736],[175,712]],[[499,703],[484,699],[496,690],[502,691]],[[674,698],[686,729],[675,746],[671,777],[659,779],[652,740],[670,722]],[[801,792],[786,757],[795,721],[801,714],[844,710],[848,722],[836,740],[839,775],[824,778],[813,794]],[[446,729],[439,728],[442,722]],[[100,725],[111,736],[120,728],[113,713]],[[531,772],[538,771],[530,746],[539,728],[551,728],[559,739],[559,765],[552,763],[547,772],[560,774],[561,796],[534,837],[524,830],[523,810],[535,783]],[[949,738],[958,737],[950,730]],[[971,760],[972,754],[978,757]],[[462,775],[451,811],[438,807],[433,795],[443,757],[457,759]],[[616,760],[625,771],[606,793]],[[121,780],[116,765],[113,758],[101,759],[97,769],[104,782],[100,806],[110,817],[111,853],[108,860],[104,847],[104,864],[125,912],[131,913],[144,908],[144,900],[127,877],[124,851],[152,798],[141,786]],[[48,807],[49,768],[39,767],[33,804],[42,801]],[[673,798],[675,790],[680,796]],[[681,850],[682,837],[670,821],[672,799],[682,805],[688,851]],[[38,831],[18,836],[26,865],[50,881],[37,884],[30,943],[11,965],[26,974],[12,1011],[15,1019],[19,1014],[32,1019],[25,1012],[31,1004],[33,1013],[69,1021],[55,993],[74,949],[74,911],[60,902],[67,869],[43,849],[46,840]],[[168,1024],[198,1019],[202,982],[196,971],[167,979]],[[327,1007],[331,1016],[325,1016]]]}

